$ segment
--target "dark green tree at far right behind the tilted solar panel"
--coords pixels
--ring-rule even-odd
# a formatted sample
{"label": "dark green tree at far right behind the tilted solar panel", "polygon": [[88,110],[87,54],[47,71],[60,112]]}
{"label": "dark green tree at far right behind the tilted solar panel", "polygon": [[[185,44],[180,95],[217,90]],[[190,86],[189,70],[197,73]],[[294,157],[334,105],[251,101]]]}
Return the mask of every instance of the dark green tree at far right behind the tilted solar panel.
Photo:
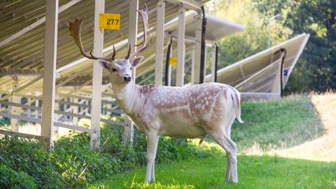
{"label": "dark green tree at far right behind the tilted solar panel", "polygon": [[307,47],[290,76],[286,92],[336,89],[336,1],[257,1],[265,16],[285,13],[284,27],[292,36],[310,34]]}

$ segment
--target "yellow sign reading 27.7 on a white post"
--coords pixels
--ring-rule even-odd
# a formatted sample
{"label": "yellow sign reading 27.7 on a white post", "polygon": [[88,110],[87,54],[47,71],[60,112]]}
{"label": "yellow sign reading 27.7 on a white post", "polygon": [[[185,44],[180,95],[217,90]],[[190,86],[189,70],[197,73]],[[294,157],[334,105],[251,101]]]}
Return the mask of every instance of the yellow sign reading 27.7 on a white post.
{"label": "yellow sign reading 27.7 on a white post", "polygon": [[120,29],[120,14],[99,14],[101,29]]}

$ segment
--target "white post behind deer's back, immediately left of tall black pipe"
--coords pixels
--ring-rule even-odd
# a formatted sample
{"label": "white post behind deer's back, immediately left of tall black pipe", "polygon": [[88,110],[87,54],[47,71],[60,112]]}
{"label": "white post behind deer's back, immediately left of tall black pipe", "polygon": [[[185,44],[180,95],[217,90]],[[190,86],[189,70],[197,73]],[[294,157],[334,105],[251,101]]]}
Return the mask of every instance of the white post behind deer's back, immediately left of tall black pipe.
{"label": "white post behind deer's back, immediately left of tall black pipe", "polygon": [[201,69],[201,41],[202,41],[202,15],[198,13],[195,36],[195,64],[193,74],[193,84],[200,84],[200,69]]}

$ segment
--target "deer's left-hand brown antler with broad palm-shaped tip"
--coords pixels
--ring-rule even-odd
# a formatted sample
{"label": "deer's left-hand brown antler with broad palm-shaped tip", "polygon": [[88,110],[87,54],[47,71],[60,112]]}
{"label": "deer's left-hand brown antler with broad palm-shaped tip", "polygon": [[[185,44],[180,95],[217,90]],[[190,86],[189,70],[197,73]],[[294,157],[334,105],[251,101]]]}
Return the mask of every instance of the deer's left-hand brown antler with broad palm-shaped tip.
{"label": "deer's left-hand brown antler with broad palm-shaped tip", "polygon": [[76,18],[73,21],[69,20],[69,26],[68,26],[71,33],[70,35],[73,37],[73,40],[75,41],[76,45],[78,45],[78,48],[82,53],[82,55],[84,57],[87,57],[88,59],[104,59],[107,61],[113,61],[114,58],[116,57],[116,49],[114,48],[114,45],[113,45],[113,55],[111,57],[96,57],[92,55],[92,50],[90,51],[90,55],[88,55],[85,52],[82,44],[82,39],[80,37],[80,28],[82,27],[83,20],[84,18]]}

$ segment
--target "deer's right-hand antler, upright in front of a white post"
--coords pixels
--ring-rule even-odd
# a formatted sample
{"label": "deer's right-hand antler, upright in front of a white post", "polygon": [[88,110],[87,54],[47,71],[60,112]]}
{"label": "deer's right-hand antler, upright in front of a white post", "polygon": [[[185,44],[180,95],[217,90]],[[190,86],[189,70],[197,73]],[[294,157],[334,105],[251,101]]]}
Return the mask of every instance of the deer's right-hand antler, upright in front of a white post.
{"label": "deer's right-hand antler, upright in front of a white post", "polygon": [[144,40],[141,43],[139,43],[138,45],[134,45],[134,46],[141,45],[141,48],[139,50],[137,50],[136,52],[133,52],[132,54],[130,53],[131,52],[131,45],[130,45],[130,47],[128,48],[127,56],[125,57],[125,59],[129,59],[130,57],[136,56],[137,54],[139,54],[139,52],[144,51],[149,46],[149,43],[148,43],[148,45],[146,45],[146,36],[147,36],[147,31],[148,31],[148,7],[145,4],[145,8],[143,10],[137,10],[137,11],[141,16],[141,20],[142,20],[142,23],[144,25],[144,27],[143,27],[143,29],[144,29],[144,34],[143,34]]}

